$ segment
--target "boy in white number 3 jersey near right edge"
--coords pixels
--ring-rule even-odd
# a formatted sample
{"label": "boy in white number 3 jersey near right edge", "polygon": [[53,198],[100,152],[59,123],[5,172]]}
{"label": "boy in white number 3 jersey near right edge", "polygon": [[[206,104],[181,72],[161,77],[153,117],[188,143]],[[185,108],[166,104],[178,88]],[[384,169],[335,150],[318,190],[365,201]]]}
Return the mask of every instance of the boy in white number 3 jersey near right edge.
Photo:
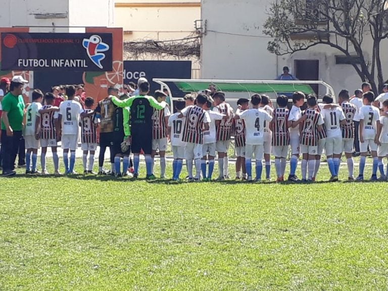
{"label": "boy in white number 3 jersey near right edge", "polygon": [[380,126],[380,112],[377,107],[372,106],[374,101],[374,93],[369,91],[363,94],[364,106],[360,108],[360,173],[357,177],[357,181],[364,180],[364,168],[365,160],[368,152],[368,146],[370,148],[373,157],[373,168],[371,181],[377,180],[377,128]]}

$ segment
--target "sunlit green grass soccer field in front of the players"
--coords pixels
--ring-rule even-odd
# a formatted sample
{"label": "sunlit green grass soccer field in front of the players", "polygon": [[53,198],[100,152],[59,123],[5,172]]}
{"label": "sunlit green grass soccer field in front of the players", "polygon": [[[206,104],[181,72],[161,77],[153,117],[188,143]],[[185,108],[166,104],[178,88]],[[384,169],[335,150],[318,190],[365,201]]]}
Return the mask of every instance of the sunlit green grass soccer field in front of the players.
{"label": "sunlit green grass soccer field in front of the players", "polygon": [[0,178],[0,290],[386,289],[386,188]]}

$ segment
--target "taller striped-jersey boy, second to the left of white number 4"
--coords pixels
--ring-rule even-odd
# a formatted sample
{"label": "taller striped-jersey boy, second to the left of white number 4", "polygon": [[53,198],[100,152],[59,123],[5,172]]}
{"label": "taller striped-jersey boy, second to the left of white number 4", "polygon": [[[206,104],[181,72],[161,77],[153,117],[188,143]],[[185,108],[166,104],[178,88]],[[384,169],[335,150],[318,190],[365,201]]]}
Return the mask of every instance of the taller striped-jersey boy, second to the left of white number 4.
{"label": "taller striped-jersey boy, second to the left of white number 4", "polygon": [[228,150],[230,144],[230,137],[232,134],[232,120],[234,117],[233,108],[225,102],[225,93],[215,92],[213,95],[214,109],[213,111],[224,114],[226,119],[222,119],[216,123],[216,151],[218,153],[218,180],[228,178]]}

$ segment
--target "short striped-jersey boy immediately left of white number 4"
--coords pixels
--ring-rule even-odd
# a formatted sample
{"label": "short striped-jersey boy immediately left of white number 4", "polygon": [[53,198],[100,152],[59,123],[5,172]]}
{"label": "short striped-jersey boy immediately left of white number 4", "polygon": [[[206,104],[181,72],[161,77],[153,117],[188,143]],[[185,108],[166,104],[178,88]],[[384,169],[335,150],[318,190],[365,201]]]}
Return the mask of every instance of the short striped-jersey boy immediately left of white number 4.
{"label": "short striped-jersey boy immediately left of white number 4", "polygon": [[[249,109],[249,100],[246,98],[240,98],[237,100],[236,115],[240,112],[244,112]],[[245,121],[243,119],[233,119],[234,122],[234,143],[236,150],[236,180],[247,180],[247,169],[245,167]],[[241,176],[241,170],[243,175]]]}

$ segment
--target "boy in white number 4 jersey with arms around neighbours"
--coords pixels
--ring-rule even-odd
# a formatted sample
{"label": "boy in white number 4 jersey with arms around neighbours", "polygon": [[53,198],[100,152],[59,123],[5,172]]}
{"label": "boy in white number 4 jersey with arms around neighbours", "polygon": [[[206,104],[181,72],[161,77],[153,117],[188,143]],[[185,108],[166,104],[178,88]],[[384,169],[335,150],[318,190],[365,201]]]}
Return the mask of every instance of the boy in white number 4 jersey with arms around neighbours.
{"label": "boy in white number 4 jersey with arms around neighbours", "polygon": [[261,173],[263,171],[263,155],[264,155],[264,123],[271,122],[272,116],[265,110],[260,109],[259,105],[261,97],[259,94],[252,95],[251,103],[253,109],[240,112],[235,116],[235,119],[243,119],[246,125],[246,150],[245,164],[247,168],[248,181],[252,181],[252,157],[255,154],[256,158],[256,182],[261,181]]}

